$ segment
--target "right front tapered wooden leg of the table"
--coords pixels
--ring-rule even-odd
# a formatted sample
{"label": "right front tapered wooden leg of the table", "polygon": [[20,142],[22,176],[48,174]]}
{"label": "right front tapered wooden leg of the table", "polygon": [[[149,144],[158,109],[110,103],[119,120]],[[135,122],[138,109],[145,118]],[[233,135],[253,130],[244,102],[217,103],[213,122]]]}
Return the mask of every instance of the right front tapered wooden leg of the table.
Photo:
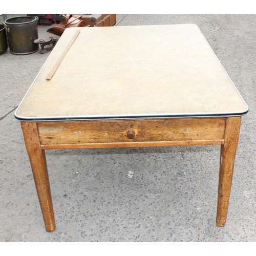
{"label": "right front tapered wooden leg of the table", "polygon": [[239,140],[241,117],[228,117],[224,144],[221,145],[219,192],[217,205],[217,226],[223,227],[226,224],[229,197],[232,184],[234,158]]}

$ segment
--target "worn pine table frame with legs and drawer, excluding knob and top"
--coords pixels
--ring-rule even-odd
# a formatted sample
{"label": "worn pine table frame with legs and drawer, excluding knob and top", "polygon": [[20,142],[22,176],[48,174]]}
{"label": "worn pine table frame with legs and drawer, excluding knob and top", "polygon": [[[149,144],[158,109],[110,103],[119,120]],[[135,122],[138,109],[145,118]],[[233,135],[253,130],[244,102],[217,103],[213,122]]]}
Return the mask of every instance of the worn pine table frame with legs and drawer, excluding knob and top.
{"label": "worn pine table frame with legs and drawer, excluding knob and top", "polygon": [[[45,150],[221,145],[216,223],[226,223],[241,116],[21,122],[46,230],[55,230]],[[134,132],[134,138],[127,134]]]}

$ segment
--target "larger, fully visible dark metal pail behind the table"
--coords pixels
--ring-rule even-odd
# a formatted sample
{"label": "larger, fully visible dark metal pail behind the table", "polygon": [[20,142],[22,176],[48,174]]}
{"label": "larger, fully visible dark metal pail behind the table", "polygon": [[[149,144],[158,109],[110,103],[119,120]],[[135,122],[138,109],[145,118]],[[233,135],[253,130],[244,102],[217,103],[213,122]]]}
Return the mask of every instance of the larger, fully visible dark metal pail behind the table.
{"label": "larger, fully visible dark metal pail behind the table", "polygon": [[37,17],[19,16],[5,20],[11,53],[24,55],[39,50],[39,45],[34,44],[34,40],[38,39],[37,19]]}

